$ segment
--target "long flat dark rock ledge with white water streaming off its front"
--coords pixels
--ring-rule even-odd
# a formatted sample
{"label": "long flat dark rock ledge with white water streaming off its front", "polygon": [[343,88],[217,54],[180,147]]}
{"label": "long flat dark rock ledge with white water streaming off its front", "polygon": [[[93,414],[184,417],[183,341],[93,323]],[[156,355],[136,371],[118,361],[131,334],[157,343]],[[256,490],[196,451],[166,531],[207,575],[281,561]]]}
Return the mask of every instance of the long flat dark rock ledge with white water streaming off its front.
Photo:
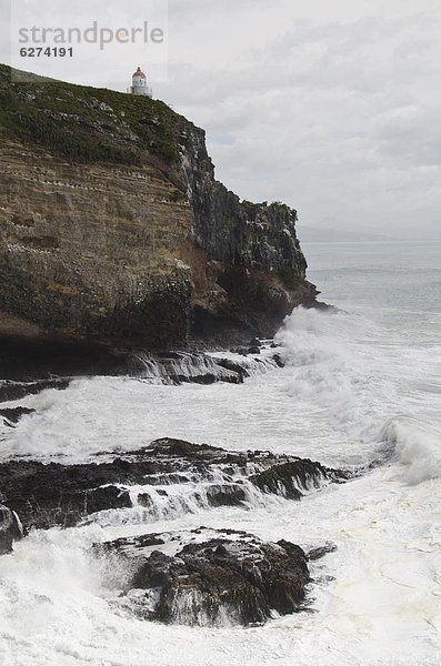
{"label": "long flat dark rock ledge with white water streaming off its front", "polygon": [[[76,525],[106,509],[129,508],[128,488],[133,485],[143,486],[138,493],[140,506],[167,517],[194,506],[240,506],[250,501],[255,487],[299,500],[303,490],[343,480],[343,473],[308,460],[264,451],[232,452],[168,437],[113,456],[103,453],[96,456],[97,462],[74,465],[2,463],[0,497],[26,527],[47,528]],[[163,486],[174,486],[172,495]]]}

